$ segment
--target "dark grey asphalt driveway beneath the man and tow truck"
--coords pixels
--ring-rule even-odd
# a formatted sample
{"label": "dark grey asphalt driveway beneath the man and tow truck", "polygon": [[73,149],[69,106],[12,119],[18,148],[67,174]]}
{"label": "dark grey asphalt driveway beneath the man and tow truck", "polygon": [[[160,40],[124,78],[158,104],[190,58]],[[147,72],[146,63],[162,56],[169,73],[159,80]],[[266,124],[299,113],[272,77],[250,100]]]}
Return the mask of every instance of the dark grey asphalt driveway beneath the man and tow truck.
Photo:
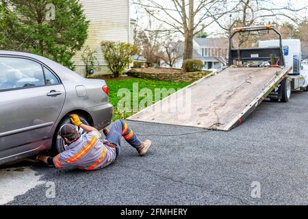
{"label": "dark grey asphalt driveway beneath the man and tow truck", "polygon": [[[103,170],[81,172],[18,164],[41,183],[9,205],[294,205],[308,204],[308,93],[290,103],[265,101],[229,132],[129,122],[153,146],[138,157],[123,142],[117,161]],[[10,172],[8,171],[10,170]],[[32,177],[33,178],[33,177]],[[27,184],[26,178],[20,177]],[[55,198],[47,198],[47,183]],[[252,198],[253,182],[261,197]],[[10,183],[8,187],[13,186]],[[14,188],[11,188],[14,190]]]}

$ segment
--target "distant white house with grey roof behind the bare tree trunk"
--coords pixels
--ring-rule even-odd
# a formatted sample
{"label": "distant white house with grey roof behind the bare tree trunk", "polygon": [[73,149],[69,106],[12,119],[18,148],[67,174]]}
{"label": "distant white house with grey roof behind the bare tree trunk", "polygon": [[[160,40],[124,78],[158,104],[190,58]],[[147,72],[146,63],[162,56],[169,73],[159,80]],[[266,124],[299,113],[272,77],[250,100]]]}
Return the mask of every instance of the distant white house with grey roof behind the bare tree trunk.
{"label": "distant white house with grey roof behind the bare tree trunk", "polygon": [[[181,53],[183,53],[183,43],[181,44]],[[218,69],[227,65],[229,56],[228,38],[194,38],[193,59],[202,60],[204,69]],[[183,58],[175,62],[174,68],[181,68]],[[169,68],[164,61],[161,62],[162,68]]]}

